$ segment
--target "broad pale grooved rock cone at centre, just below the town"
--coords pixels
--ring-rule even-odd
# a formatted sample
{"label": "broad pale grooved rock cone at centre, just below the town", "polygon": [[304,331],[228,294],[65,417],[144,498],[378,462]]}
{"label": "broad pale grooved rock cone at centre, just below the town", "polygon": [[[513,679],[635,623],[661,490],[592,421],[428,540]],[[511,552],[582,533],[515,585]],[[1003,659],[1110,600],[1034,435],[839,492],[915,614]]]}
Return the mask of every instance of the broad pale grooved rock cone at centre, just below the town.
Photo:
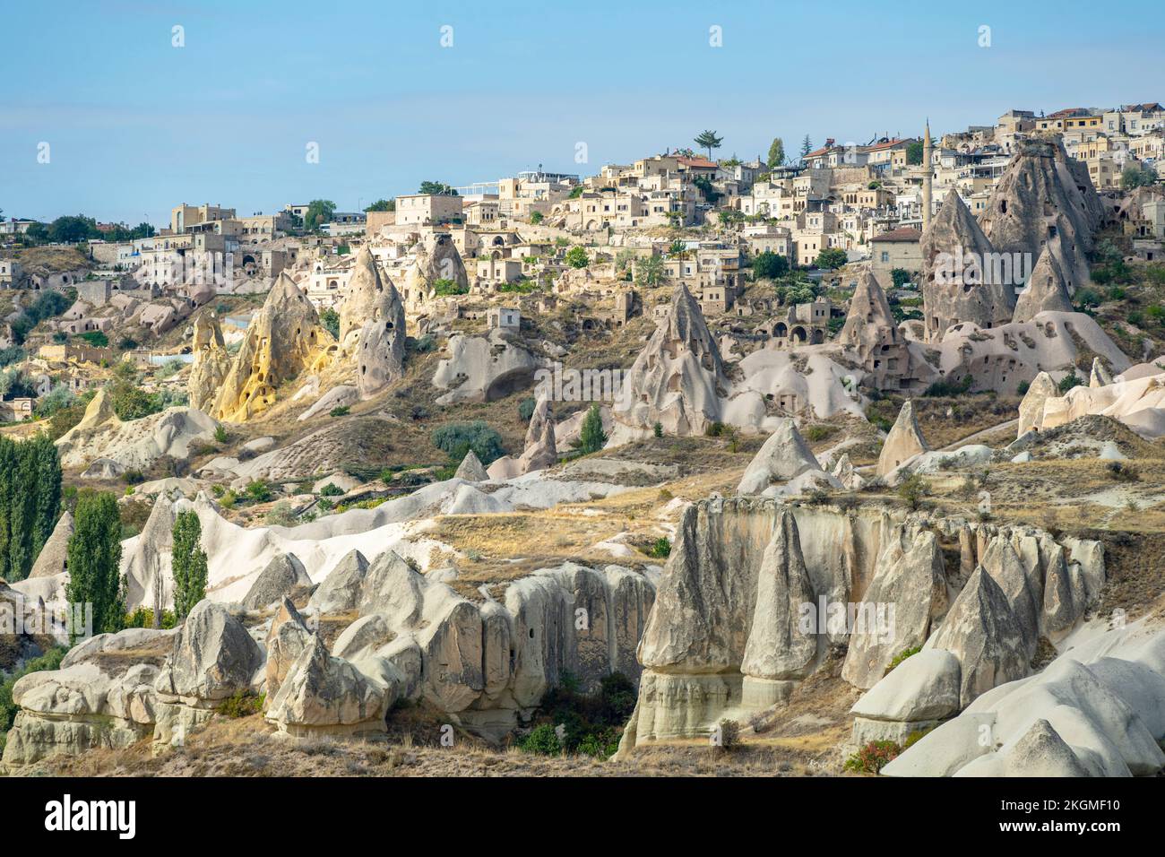
{"label": "broad pale grooved rock cone at centre, just below the town", "polygon": [[698,435],[720,419],[728,379],[700,304],[682,283],[668,315],[623,379],[612,414],[631,429],[656,422],[669,435]]}

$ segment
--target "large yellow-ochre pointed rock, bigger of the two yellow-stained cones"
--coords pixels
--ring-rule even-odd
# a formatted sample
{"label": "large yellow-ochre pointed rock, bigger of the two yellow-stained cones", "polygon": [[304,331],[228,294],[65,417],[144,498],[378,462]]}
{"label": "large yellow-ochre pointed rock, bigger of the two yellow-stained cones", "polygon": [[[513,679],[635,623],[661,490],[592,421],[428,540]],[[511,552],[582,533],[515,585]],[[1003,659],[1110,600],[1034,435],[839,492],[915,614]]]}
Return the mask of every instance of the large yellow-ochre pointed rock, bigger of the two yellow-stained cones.
{"label": "large yellow-ochre pointed rock, bigger of the two yellow-stained cones", "polygon": [[316,308],[283,272],[247,325],[242,345],[214,400],[214,416],[245,422],[275,403],[275,391],[304,370],[331,361],[336,340]]}

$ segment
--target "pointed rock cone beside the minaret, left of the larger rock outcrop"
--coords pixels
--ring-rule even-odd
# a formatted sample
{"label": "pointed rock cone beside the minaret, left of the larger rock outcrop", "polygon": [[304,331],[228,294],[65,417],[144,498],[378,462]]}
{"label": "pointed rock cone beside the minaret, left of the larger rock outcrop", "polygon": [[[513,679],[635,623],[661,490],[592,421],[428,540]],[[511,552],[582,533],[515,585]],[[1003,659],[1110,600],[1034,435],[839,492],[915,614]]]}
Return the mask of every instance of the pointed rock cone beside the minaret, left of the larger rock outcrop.
{"label": "pointed rock cone beside the minaret, left of the larger rock outcrop", "polygon": [[960,322],[995,328],[1011,321],[1018,281],[996,271],[995,248],[958,191],[947,192],[920,250],[927,342],[941,342]]}

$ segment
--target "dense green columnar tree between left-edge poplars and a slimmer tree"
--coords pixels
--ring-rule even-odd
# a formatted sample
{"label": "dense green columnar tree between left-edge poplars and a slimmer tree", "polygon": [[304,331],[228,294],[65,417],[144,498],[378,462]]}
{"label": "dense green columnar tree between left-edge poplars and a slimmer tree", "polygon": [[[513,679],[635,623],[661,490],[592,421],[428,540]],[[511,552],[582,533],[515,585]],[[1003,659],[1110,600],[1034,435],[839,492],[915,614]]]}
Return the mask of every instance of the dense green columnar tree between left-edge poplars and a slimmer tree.
{"label": "dense green columnar tree between left-edge poplars and a slimmer tree", "polygon": [[[121,578],[121,517],[118,500],[108,491],[86,491],[77,497],[73,534],[69,539],[69,584],[65,598],[72,605],[91,605],[93,632],[121,630],[126,616]],[[73,628],[75,638],[80,628]]]}

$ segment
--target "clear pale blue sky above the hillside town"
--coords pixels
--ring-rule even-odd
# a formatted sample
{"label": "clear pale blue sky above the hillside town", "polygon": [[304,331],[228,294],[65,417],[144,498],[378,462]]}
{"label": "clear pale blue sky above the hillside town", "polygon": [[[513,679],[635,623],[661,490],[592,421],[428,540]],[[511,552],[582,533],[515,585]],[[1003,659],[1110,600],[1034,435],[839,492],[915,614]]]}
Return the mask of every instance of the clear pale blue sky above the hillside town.
{"label": "clear pale blue sky above the hillside town", "polygon": [[939,134],[1011,107],[1165,100],[1165,3],[1023,6],[6,2],[0,209],[158,225],[179,202],[355,210],[425,178],[595,173],[704,128],[720,156],[754,157],[774,136],[792,154],[806,133],[866,142],[926,115]]}

